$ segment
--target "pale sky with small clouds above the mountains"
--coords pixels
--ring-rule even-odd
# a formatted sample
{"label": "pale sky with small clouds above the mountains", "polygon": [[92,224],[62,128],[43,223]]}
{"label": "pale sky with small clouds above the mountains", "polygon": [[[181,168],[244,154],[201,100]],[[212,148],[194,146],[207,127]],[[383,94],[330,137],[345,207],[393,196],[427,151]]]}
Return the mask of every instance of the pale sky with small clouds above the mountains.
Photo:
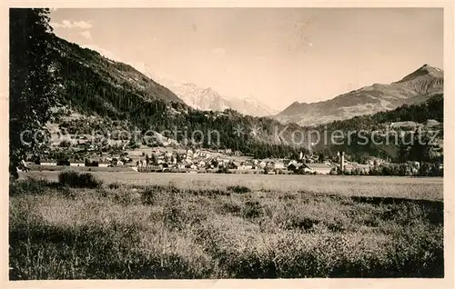
{"label": "pale sky with small clouds above the mountains", "polygon": [[440,8],[56,9],[56,35],[275,110],[428,64],[443,69]]}

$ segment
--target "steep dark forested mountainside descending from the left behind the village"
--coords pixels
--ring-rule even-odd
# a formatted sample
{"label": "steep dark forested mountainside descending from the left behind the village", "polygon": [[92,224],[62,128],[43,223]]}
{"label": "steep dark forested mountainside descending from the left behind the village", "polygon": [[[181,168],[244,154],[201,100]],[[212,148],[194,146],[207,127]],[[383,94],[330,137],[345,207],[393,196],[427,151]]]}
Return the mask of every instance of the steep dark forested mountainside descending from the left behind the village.
{"label": "steep dark forested mountainside descending from the left behind the village", "polygon": [[[69,116],[80,115],[79,119],[90,119],[90,124],[56,116],[49,125],[63,125],[68,132],[81,135],[93,130],[110,134],[118,126],[140,134],[154,131],[180,145],[228,148],[257,157],[298,155],[305,145],[295,144],[292,131],[283,131],[286,127],[276,120],[242,115],[230,108],[197,110],[132,65],[56,36],[50,45],[63,88],[61,105],[71,112]],[[203,97],[215,94],[211,89],[201,91]],[[143,140],[139,136],[136,142]]]}

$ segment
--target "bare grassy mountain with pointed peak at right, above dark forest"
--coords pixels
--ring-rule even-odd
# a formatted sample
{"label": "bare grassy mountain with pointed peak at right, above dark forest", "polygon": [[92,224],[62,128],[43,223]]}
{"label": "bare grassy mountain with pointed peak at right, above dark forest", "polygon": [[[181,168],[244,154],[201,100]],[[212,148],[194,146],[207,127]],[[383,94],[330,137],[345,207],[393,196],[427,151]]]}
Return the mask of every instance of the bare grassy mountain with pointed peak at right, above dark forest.
{"label": "bare grassy mountain with pointed peak at right, above dark forest", "polygon": [[404,104],[418,104],[432,95],[441,94],[444,72],[440,68],[423,65],[410,75],[389,85],[370,85],[318,103],[289,105],[273,116],[282,123],[320,125],[357,115],[388,111]]}

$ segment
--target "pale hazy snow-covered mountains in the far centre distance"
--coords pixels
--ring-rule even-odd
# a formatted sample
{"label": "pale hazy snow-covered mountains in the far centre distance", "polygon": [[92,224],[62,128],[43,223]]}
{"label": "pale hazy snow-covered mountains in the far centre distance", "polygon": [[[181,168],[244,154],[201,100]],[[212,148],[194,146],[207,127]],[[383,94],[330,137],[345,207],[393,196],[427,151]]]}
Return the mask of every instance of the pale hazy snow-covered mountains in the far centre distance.
{"label": "pale hazy snow-covered mountains in the far centre distance", "polygon": [[182,82],[170,75],[165,75],[147,66],[144,63],[130,63],[138,71],[167,86],[187,105],[199,110],[223,111],[227,108],[238,111],[242,115],[265,116],[275,115],[278,111],[270,109],[253,96],[228,97],[220,95],[211,87],[200,87],[198,85]]}

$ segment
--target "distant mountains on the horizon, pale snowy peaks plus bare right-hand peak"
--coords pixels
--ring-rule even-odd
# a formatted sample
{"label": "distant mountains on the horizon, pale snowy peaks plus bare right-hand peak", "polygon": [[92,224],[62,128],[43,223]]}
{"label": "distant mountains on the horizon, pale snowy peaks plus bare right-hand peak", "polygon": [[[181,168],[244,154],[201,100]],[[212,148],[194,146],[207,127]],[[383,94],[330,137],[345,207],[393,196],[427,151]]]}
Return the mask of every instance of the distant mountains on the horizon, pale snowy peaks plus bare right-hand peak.
{"label": "distant mountains on the horizon, pale snowy peaks plus bare right-hand peak", "polygon": [[[93,45],[86,45],[86,48],[95,50],[107,59],[123,63],[118,56],[106,49]],[[268,116],[283,124],[295,123],[304,126],[328,124],[357,115],[371,115],[404,104],[418,104],[429,99],[431,95],[442,93],[444,77],[444,72],[440,68],[422,65],[410,75],[389,85],[374,84],[361,87],[318,103],[294,102],[278,113],[251,95],[245,97],[221,95],[211,87],[200,87],[178,80],[142,62],[129,62],[126,65],[146,75],[152,82],[166,86],[192,108],[204,111],[233,109],[243,115]]]}

